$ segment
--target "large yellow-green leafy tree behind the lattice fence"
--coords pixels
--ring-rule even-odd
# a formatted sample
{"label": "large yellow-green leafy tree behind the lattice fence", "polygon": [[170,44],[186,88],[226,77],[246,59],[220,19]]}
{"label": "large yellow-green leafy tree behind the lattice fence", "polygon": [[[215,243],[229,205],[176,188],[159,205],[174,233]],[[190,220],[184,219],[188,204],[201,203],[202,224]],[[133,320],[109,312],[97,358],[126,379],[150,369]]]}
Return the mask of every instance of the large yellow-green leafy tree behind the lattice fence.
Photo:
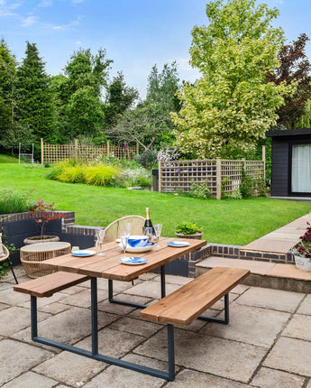
{"label": "large yellow-green leafy tree behind the lattice fence", "polygon": [[266,83],[278,66],[283,42],[281,29],[270,26],[279,14],[256,0],[211,1],[206,5],[208,26],[194,27],[191,64],[202,78],[185,85],[177,145],[200,158],[233,157],[252,149],[270,125],[289,88]]}

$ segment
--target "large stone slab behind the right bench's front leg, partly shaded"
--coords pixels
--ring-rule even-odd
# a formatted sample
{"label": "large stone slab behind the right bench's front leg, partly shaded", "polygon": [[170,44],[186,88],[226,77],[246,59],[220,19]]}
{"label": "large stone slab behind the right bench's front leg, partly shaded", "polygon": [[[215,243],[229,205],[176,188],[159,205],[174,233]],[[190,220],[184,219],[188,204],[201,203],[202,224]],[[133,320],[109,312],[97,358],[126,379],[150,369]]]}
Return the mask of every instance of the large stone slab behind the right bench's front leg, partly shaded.
{"label": "large stone slab behind the right bench's front leg, partly shaded", "polygon": [[[155,336],[135,349],[143,355],[167,360],[167,332],[160,330]],[[186,330],[175,330],[175,360],[200,372],[216,374],[247,383],[266,355],[267,349],[228,339],[202,336]]]}

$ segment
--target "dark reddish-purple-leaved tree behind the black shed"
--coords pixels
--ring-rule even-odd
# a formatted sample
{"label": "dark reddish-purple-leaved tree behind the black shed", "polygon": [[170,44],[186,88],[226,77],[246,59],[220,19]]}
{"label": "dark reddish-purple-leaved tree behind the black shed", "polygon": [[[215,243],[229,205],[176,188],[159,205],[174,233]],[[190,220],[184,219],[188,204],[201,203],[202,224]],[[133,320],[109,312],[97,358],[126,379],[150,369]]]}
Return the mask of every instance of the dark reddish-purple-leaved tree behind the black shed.
{"label": "dark reddish-purple-leaved tree behind the black shed", "polygon": [[306,101],[311,98],[311,64],[306,56],[306,33],[301,33],[297,41],[284,45],[279,51],[280,66],[267,76],[267,82],[287,85],[295,82],[297,89],[293,96],[285,96],[285,105],[280,106],[278,124],[294,129],[299,118],[306,113]]}

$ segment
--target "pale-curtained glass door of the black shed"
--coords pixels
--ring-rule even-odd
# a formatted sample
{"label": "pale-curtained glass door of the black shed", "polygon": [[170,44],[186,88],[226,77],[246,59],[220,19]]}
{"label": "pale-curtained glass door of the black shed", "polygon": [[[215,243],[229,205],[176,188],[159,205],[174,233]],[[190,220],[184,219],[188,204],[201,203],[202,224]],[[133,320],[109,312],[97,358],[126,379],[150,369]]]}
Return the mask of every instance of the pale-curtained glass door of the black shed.
{"label": "pale-curtained glass door of the black shed", "polygon": [[311,193],[311,144],[292,146],[291,191]]}

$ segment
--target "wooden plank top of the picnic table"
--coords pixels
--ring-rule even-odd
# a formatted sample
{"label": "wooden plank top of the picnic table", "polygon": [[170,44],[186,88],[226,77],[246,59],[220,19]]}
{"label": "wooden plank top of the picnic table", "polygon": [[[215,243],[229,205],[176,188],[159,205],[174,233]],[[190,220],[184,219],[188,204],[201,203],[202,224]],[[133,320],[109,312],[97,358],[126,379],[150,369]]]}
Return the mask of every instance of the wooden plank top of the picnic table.
{"label": "wooden plank top of the picnic table", "polygon": [[[40,262],[39,265],[56,271],[81,273],[88,276],[118,281],[131,281],[142,273],[148,273],[165,263],[176,260],[184,254],[197,251],[197,249],[206,245],[205,240],[195,239],[187,239],[188,246],[172,247],[167,245],[172,240],[184,241],[178,238],[160,237],[161,248],[153,247],[151,251],[143,254],[125,254],[127,256],[145,257],[148,259],[147,263],[140,265],[120,263],[120,257],[123,256],[123,251],[114,242],[103,245],[102,252],[105,253],[105,256],[94,254],[88,257],[76,257],[72,254],[64,254]],[[97,247],[91,249],[98,251]]]}

